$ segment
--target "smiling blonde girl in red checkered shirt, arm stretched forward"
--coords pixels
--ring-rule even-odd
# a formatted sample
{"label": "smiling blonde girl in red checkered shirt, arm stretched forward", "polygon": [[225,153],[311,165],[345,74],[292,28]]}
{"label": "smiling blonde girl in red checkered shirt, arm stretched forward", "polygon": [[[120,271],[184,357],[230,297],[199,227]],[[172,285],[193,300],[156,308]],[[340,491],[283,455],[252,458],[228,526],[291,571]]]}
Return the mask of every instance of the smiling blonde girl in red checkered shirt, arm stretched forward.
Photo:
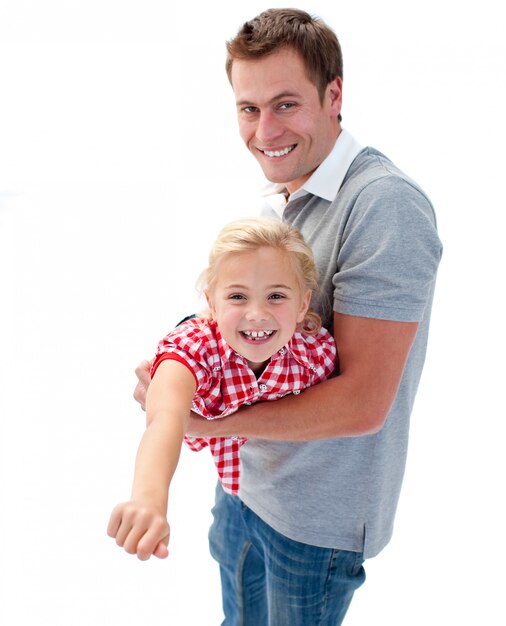
{"label": "smiling blonde girl in red checkered shirt, arm stretched forward", "polygon": [[244,404],[300,393],[331,376],[336,348],[309,310],[317,287],[302,235],[276,220],[226,226],[201,284],[209,317],[190,319],[158,345],[146,399],[130,502],[111,514],[108,534],[141,560],[168,555],[168,490],[183,440],[209,445],[223,488],[239,491],[240,437],[185,437],[190,410],[225,417]]}

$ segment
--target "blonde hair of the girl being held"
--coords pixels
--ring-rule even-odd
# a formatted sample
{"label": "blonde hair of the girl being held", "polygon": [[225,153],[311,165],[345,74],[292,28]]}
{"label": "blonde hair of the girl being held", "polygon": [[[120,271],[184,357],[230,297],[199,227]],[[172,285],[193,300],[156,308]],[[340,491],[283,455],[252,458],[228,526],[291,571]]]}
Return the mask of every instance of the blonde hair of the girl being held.
{"label": "blonde hair of the girl being held", "polygon": [[[288,254],[302,293],[318,289],[318,270],[313,252],[301,233],[279,220],[252,217],[227,224],[218,234],[209,253],[209,264],[198,280],[201,292],[212,291],[217,280],[218,265],[229,254],[253,252],[268,247]],[[320,316],[308,309],[298,329],[306,334],[316,334],[322,325]]]}

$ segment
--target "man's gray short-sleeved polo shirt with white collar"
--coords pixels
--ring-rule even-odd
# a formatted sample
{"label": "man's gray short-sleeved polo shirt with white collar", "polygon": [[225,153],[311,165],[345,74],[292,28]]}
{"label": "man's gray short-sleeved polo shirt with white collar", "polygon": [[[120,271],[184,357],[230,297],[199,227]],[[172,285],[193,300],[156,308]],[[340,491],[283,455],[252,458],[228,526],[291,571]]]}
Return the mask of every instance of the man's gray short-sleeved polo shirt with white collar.
{"label": "man's gray short-sleeved polo shirt with white collar", "polygon": [[334,310],[417,321],[419,329],[379,433],[303,443],[250,440],[241,449],[240,498],[291,539],[372,557],[392,534],[425,358],[442,249],[434,211],[391,161],[343,131],[282,218],[313,249],[321,286],[313,306],[327,328]]}

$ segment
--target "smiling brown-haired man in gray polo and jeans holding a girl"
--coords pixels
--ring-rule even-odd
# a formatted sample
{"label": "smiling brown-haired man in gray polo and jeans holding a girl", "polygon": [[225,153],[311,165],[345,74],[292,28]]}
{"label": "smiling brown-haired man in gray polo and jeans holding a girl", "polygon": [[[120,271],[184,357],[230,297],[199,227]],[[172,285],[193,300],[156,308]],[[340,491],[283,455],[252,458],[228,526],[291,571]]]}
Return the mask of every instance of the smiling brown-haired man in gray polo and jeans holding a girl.
{"label": "smiling brown-haired man in gray polo and jeans holding a girl", "polygon": [[[239,497],[218,487],[210,530],[224,624],[335,626],[363,560],[391,537],[441,244],[420,188],[341,128],[341,50],[323,22],[272,9],[227,50],[241,137],[274,184],[271,214],[313,248],[313,304],[333,329],[339,375],[226,420],[191,420],[196,435],[250,439]],[[142,402],[145,364],[137,374]]]}

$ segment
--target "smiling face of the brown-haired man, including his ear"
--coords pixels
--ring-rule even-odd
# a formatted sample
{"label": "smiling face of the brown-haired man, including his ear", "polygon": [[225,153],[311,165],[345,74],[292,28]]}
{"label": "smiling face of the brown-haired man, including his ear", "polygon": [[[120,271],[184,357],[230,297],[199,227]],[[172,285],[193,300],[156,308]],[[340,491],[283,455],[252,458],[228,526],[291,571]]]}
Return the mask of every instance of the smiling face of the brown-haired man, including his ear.
{"label": "smiling face of the brown-haired man, including his ear", "polygon": [[239,131],[268,180],[299,189],[332,150],[340,133],[342,81],[323,103],[297,52],[285,48],[259,60],[235,60],[232,87]]}

